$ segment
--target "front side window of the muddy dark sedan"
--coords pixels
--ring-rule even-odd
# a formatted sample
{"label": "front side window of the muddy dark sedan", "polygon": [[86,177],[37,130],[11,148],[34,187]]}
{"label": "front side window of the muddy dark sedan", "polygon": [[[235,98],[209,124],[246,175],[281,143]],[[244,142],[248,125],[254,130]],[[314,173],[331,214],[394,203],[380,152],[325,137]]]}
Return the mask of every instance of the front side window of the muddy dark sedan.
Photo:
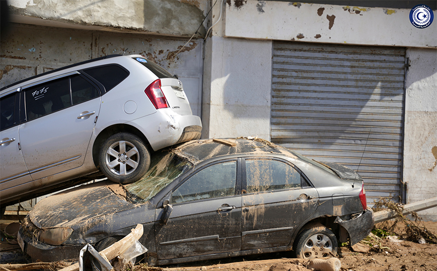
{"label": "front side window of the muddy dark sedan", "polygon": [[192,200],[235,195],[237,161],[206,167],[195,173],[172,192],[174,204]]}

